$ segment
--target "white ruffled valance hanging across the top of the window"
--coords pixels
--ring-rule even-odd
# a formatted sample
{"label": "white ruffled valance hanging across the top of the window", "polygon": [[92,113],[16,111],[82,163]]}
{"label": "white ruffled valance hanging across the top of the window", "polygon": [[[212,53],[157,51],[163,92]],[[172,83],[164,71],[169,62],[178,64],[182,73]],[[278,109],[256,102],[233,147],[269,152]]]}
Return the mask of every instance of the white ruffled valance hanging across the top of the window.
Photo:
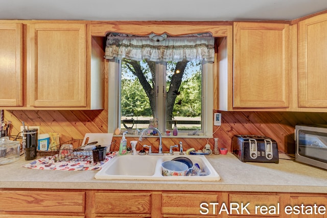
{"label": "white ruffled valance hanging across the top of the window", "polygon": [[109,34],[105,58],[127,58],[136,61],[214,61],[215,39],[211,34],[194,34],[182,37],[167,37],[154,41],[150,37]]}

